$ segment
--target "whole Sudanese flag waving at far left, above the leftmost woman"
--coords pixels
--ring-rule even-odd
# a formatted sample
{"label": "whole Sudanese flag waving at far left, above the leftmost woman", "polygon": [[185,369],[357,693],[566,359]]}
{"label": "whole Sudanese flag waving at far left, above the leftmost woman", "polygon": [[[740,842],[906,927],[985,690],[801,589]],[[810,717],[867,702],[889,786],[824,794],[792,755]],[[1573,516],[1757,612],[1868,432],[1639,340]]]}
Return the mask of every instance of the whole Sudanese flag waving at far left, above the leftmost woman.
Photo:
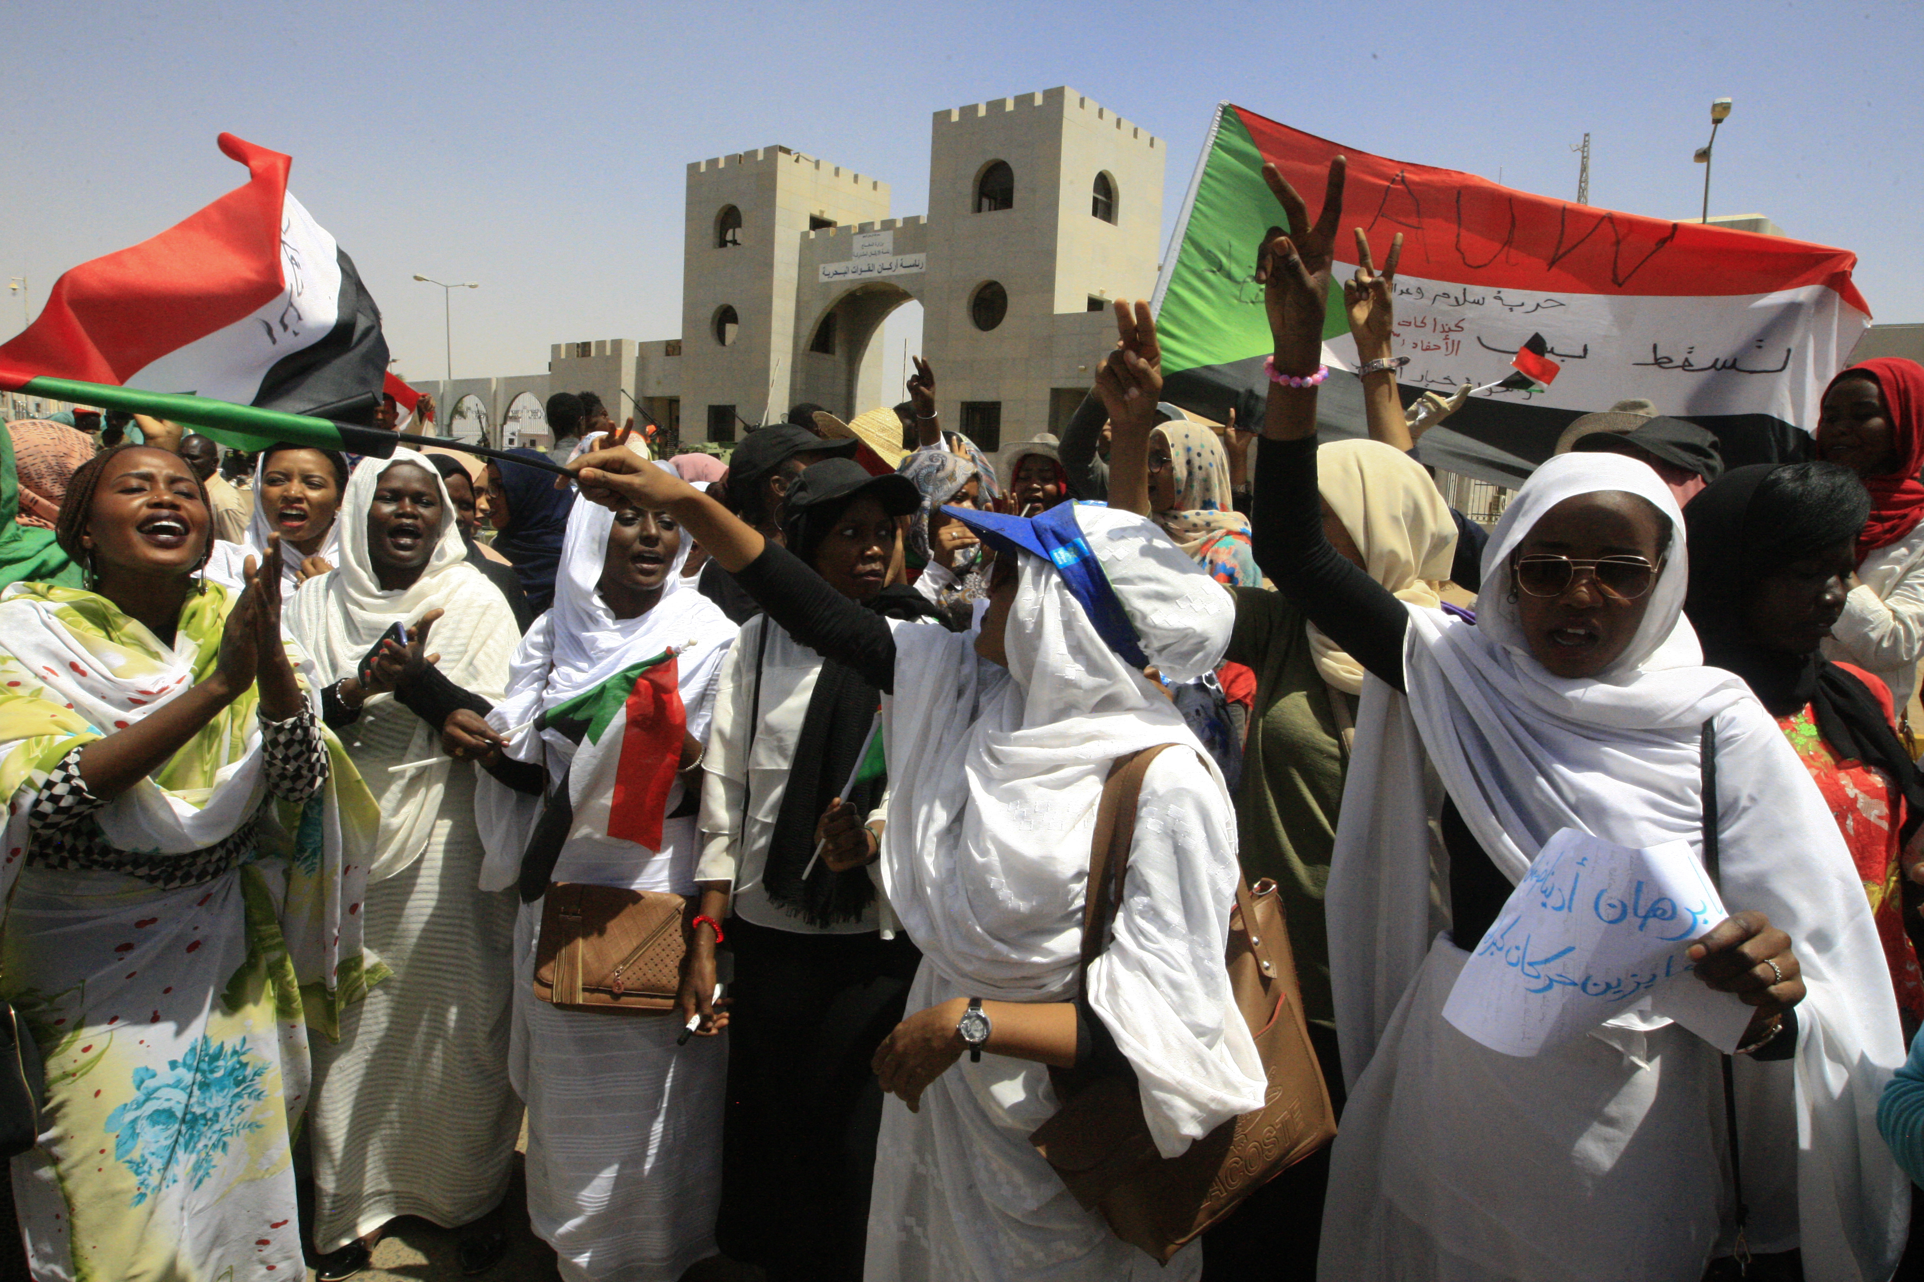
{"label": "whole Sudanese flag waving at far left, above the leftmost woman", "polygon": [[291,158],[231,133],[219,148],[248,183],[63,273],[38,319],[0,346],[0,390],[156,413],[242,450],[296,440],[391,456],[391,432],[358,427],[387,340],[354,259],[287,190]]}

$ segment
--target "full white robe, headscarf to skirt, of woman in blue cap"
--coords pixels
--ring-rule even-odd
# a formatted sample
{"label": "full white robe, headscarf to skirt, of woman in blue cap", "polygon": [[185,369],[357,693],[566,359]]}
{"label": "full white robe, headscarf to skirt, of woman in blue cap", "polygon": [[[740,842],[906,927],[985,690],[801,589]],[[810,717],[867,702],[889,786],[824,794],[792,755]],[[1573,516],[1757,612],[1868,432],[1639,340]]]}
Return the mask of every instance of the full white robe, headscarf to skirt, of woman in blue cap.
{"label": "full white robe, headscarf to skirt, of woman in blue cap", "polygon": [[[1228,594],[1141,517],[1076,511],[1152,661],[1172,678],[1214,667]],[[1089,1003],[1141,1082],[1149,1130],[1174,1157],[1264,1099],[1224,969],[1239,876],[1229,796],[1176,707],[1102,644],[1039,557],[1022,554],[1004,638],[1006,671],[977,659],[974,634],[895,627],[881,865],[924,951],[908,1009],[954,996],[1072,999],[1102,780],[1124,753],[1177,744],[1145,780],[1114,936],[1087,974]],[[1054,1111],[1047,1069],[999,1055],[956,1063],[920,1113],[889,1099],[864,1276],[1195,1276],[1201,1245],[1164,1269],[1064,1190],[1029,1144]]]}

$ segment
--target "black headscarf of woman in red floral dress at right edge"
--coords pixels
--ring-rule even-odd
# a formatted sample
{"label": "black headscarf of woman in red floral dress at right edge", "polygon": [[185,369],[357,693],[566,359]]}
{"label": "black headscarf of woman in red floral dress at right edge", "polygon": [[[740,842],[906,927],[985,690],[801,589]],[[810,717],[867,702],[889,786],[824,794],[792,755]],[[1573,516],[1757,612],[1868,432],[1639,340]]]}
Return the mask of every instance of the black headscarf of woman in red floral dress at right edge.
{"label": "black headscarf of woman in red floral dress at right edge", "polygon": [[1689,529],[1689,615],[1703,642],[1703,661],[1743,677],[1772,717],[1789,717],[1805,703],[1818,734],[1843,761],[1884,771],[1905,800],[1899,846],[1924,823],[1924,777],[1905,752],[1870,688],[1847,669],[1812,652],[1784,653],[1759,646],[1743,625],[1743,602],[1757,580],[1747,550],[1760,530],[1747,529],[1751,498],[1776,463],[1724,473],[1684,509]]}

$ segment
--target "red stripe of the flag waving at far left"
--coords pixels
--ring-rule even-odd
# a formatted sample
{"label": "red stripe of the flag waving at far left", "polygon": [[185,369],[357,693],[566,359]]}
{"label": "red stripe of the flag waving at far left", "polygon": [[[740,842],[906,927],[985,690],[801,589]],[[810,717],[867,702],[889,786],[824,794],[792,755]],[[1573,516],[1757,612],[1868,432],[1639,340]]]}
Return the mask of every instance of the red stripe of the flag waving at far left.
{"label": "red stripe of the flag waving at far left", "polygon": [[150,240],[63,273],[38,319],[0,346],[0,388],[37,377],[123,384],[285,290],[281,210],[292,161],[231,133],[219,146],[248,167],[246,186]]}

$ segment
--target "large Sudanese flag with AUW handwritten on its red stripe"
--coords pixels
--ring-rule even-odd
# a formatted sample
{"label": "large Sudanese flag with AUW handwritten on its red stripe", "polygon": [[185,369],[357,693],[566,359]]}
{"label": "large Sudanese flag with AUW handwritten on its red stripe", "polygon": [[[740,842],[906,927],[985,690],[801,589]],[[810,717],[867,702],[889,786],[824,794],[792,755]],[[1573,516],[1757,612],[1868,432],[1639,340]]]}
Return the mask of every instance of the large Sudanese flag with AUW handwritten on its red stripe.
{"label": "large Sudanese flag with AUW handwritten on its red stripe", "polygon": [[1335,156],[1349,158],[1349,183],[1324,323],[1328,434],[1364,434],[1339,288],[1356,269],[1353,227],[1370,233],[1378,263],[1403,233],[1405,402],[1499,382],[1520,352],[1557,369],[1553,386],[1510,377],[1472,396],[1420,442],[1426,463],[1505,486],[1549,457],[1570,419],[1632,396],[1714,431],[1728,465],[1791,457],[1870,325],[1847,250],[1533,196],[1220,104],[1156,283],[1168,400],[1218,421],[1229,406],[1241,423],[1262,421],[1270,329],[1254,261],[1264,231],[1283,223],[1262,165],[1274,163],[1314,217]]}

